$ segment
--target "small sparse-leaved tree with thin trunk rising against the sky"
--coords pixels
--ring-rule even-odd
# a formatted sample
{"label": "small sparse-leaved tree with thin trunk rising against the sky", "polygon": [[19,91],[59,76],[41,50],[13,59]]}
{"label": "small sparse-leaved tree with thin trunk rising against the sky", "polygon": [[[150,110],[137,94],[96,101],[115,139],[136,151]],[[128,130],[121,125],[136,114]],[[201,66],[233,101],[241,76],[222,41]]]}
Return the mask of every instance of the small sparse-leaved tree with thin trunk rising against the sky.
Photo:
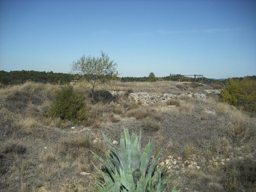
{"label": "small sparse-leaved tree with thin trunk rising against the sky", "polygon": [[71,73],[92,86],[92,102],[94,101],[94,88],[103,83],[109,83],[117,78],[117,63],[110,60],[108,54],[101,51],[100,57],[85,57],[83,55],[71,64]]}

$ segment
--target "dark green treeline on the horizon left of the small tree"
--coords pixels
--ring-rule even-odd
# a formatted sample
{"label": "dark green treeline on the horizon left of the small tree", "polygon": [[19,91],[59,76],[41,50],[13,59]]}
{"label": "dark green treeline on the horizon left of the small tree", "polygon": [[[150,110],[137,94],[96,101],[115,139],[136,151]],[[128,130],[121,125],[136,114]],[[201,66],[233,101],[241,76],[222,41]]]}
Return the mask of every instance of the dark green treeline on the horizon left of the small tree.
{"label": "dark green treeline on the horizon left of the small tree", "polygon": [[0,71],[0,83],[23,84],[26,81],[35,81],[40,83],[66,84],[73,80],[73,76],[67,73],[53,73],[45,71]]}

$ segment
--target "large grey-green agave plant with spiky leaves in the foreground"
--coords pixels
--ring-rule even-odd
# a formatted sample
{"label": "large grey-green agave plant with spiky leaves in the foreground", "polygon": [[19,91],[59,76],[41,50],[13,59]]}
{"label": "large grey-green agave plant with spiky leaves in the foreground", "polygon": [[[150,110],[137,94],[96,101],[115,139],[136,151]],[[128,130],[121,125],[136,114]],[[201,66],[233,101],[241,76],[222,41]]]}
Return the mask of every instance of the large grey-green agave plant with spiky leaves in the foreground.
{"label": "large grey-green agave plant with spiky leaves in the foreground", "polygon": [[[120,139],[120,151],[111,143],[106,135],[103,134],[103,138],[110,150],[110,153],[106,151],[108,163],[92,152],[104,165],[101,170],[94,165],[102,177],[101,180],[98,180],[96,183],[97,191],[165,191],[171,174],[163,180],[166,176],[166,166],[160,166],[157,169],[157,161],[161,155],[160,152],[150,161],[154,145],[154,136],[151,141],[149,140],[143,153],[141,153],[141,130],[139,140],[134,129],[131,138],[128,130],[124,130],[124,135],[122,134]],[[102,180],[104,180],[103,183],[101,182]],[[175,191],[177,190],[174,187],[172,192]]]}

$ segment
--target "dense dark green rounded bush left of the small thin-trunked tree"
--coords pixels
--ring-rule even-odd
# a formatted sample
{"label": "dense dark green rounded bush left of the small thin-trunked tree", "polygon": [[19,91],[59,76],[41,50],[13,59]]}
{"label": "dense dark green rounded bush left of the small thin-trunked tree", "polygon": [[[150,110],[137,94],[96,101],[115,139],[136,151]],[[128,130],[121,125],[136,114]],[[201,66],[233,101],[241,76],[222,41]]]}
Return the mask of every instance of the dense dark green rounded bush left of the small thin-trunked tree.
{"label": "dense dark green rounded bush left of the small thin-trunked tree", "polygon": [[85,120],[86,109],[83,94],[74,91],[71,86],[63,87],[54,95],[48,115],[72,122]]}

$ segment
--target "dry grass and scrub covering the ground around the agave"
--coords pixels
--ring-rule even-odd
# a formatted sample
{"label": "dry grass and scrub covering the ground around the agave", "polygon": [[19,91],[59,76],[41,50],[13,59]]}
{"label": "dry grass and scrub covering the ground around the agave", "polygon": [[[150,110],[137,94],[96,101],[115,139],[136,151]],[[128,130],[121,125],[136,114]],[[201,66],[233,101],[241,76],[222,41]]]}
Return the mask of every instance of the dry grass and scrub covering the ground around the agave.
{"label": "dry grass and scrub covering the ground around the agave", "polygon": [[[179,168],[171,170],[170,189],[176,185],[188,192],[256,190],[254,115],[214,98],[144,105],[129,100],[127,94],[115,98],[104,91],[178,94],[202,93],[207,87],[165,81],[118,82],[99,87],[97,103],[92,104],[88,85],[72,86],[86,98],[87,119],[79,124],[45,115],[60,90],[58,85],[28,82],[0,89],[0,191],[93,189],[98,176],[93,164],[100,164],[90,150],[104,156],[101,132],[119,141],[123,128],[131,127],[137,132],[142,128],[142,147],[154,134],[155,152],[163,153],[159,161],[170,155],[182,157]],[[194,157],[199,170],[186,164]]]}

